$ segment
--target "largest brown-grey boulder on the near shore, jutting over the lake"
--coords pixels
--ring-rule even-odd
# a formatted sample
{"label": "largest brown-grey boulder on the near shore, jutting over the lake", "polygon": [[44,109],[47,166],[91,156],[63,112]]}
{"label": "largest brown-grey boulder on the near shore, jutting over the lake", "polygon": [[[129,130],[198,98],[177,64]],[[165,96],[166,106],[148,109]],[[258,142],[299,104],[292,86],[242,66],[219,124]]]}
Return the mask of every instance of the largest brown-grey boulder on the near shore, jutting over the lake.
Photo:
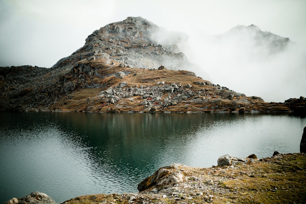
{"label": "largest brown-grey boulder on the near shore, jutting over the lake", "polygon": [[172,187],[183,181],[181,169],[185,165],[173,164],[159,168],[152,176],[147,177],[138,184],[137,189],[144,191],[153,187]]}

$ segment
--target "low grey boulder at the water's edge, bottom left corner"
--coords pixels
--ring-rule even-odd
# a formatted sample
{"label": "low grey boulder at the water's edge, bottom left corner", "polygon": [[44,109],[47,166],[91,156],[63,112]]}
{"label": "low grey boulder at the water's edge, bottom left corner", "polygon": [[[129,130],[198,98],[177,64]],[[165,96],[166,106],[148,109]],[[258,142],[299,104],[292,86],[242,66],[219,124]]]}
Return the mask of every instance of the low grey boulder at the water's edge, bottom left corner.
{"label": "low grey boulder at the water's edge, bottom left corner", "polygon": [[22,198],[12,198],[5,204],[55,204],[55,201],[47,194],[40,193],[38,191],[32,192]]}

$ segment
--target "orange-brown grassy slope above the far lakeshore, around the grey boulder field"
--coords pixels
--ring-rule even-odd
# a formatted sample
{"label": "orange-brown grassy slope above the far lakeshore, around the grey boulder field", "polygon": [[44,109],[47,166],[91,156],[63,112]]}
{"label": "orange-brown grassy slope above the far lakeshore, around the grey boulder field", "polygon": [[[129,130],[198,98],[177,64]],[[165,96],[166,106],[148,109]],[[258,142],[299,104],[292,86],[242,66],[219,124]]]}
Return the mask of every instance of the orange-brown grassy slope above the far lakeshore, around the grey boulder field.
{"label": "orange-brown grassy slope above the far lakeshore, around the grey boulder field", "polygon": [[[257,99],[244,97],[249,103],[242,103],[233,105],[231,100],[222,100],[218,103],[212,104],[211,101],[216,98],[220,98],[220,90],[218,86],[210,85],[199,85],[195,82],[208,82],[201,79],[200,77],[195,77],[190,75],[189,71],[181,70],[158,70],[158,69],[138,69],[129,67],[120,67],[118,62],[116,65],[107,65],[103,60],[87,61],[85,62],[93,69],[97,70],[100,76],[91,75],[87,76],[87,83],[91,84],[101,84],[102,88],[77,88],[73,91],[70,97],[64,97],[60,101],[56,102],[51,109],[59,109],[63,111],[96,111],[96,112],[146,112],[147,109],[140,105],[143,99],[140,96],[134,96],[132,98],[120,98],[120,101],[115,104],[110,104],[105,98],[95,97],[101,91],[107,90],[109,87],[115,87],[120,82],[125,81],[128,83],[127,87],[147,87],[147,86],[159,86],[156,85],[157,82],[164,81],[165,84],[170,85],[171,83],[177,83],[183,86],[185,91],[192,91],[195,95],[192,98],[182,100],[177,102],[175,106],[162,106],[158,103],[154,103],[151,111],[158,110],[159,112],[170,111],[170,112],[210,112],[210,111],[238,111],[240,107],[244,107],[245,111],[259,110],[259,111],[289,111],[290,109],[279,103],[266,103],[259,102]],[[129,72],[124,79],[115,79],[114,73],[122,71]],[[101,77],[102,76],[102,77]],[[71,80],[73,77],[71,77]],[[187,88],[187,84],[191,84],[191,88]],[[200,93],[199,91],[205,93]],[[199,94],[198,94],[199,93]],[[163,93],[161,102],[164,98],[170,96],[174,98],[180,93]],[[194,102],[192,99],[210,97],[211,100],[203,102],[203,100],[198,100]],[[89,98],[89,99],[88,99]],[[239,100],[243,97],[235,97],[232,100]]]}

